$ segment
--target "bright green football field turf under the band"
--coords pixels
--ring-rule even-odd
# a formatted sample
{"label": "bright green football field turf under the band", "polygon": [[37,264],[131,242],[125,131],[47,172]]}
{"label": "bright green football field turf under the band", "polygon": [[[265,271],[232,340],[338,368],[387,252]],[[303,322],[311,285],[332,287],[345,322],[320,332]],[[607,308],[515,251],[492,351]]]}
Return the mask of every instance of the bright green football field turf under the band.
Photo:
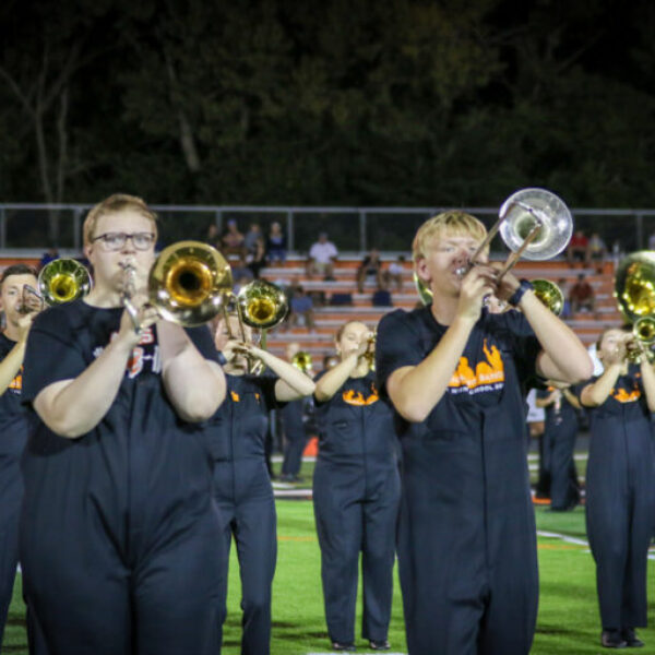
{"label": "bright green football field turf under the band", "polygon": [[[320,555],[312,507],[307,501],[279,500],[278,558],[273,587],[274,655],[329,653],[320,583]],[[536,509],[539,537],[540,600],[533,653],[575,655],[599,653],[600,627],[594,582],[594,562],[585,545],[584,510],[568,514]],[[557,536],[555,536],[557,535]],[[223,653],[237,655],[240,639],[239,575],[234,548],[230,563],[229,615]],[[655,591],[651,572],[650,619],[655,622]],[[14,590],[4,653],[27,654],[20,576]],[[359,623],[358,623],[359,624]],[[641,653],[655,652],[655,629],[640,631],[646,642]],[[406,653],[401,594],[396,581],[390,631],[393,653]],[[357,651],[367,653],[357,640]],[[502,654],[499,654],[502,655]]]}

